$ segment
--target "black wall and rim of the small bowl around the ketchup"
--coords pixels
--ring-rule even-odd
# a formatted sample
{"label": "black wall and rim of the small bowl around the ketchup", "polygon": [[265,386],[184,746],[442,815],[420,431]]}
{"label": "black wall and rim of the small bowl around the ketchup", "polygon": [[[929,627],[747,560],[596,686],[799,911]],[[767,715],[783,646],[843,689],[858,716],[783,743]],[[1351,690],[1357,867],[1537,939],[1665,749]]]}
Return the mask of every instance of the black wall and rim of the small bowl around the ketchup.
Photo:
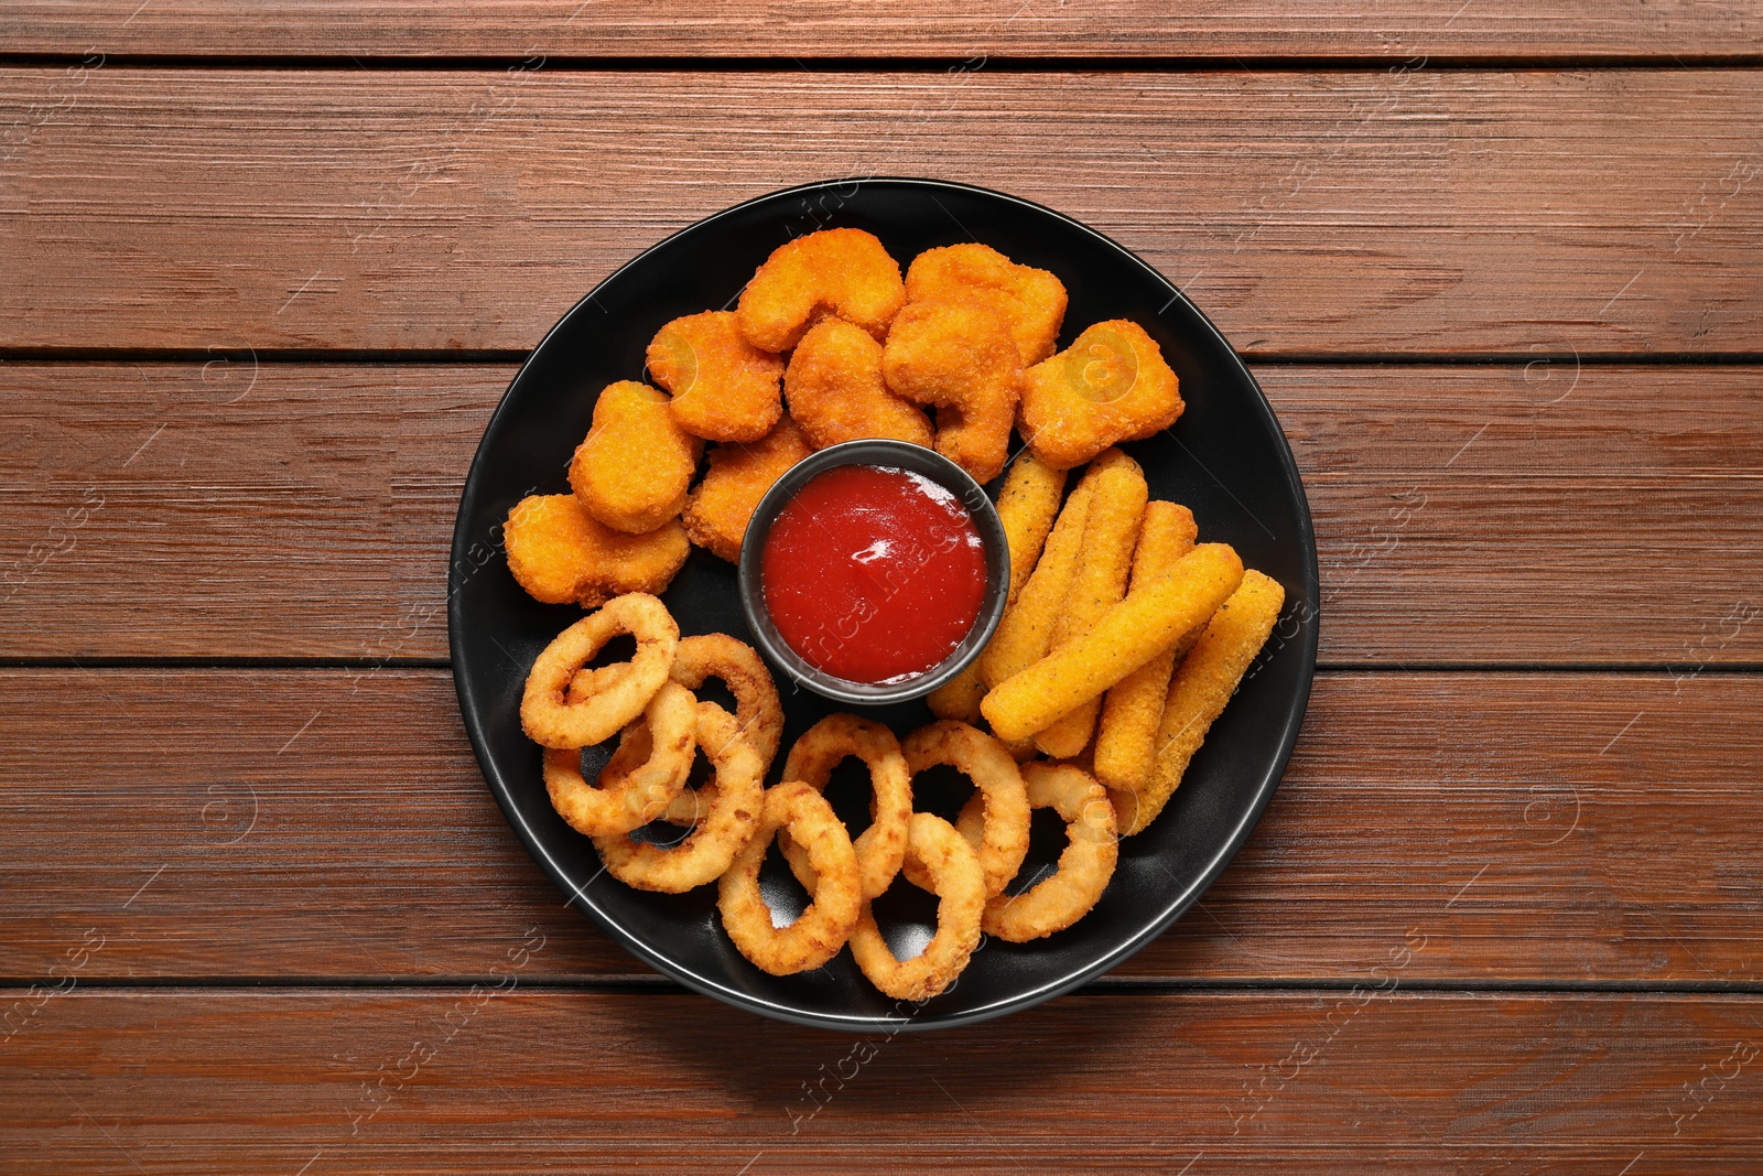
{"label": "black wall and rim of the small bowl around the ketchup", "polygon": [[[809,665],[799,652],[790,649],[790,644],[777,633],[777,626],[772,624],[770,614],[765,612],[765,589],[760,584],[760,555],[765,550],[765,536],[770,534],[770,525],[777,520],[777,511],[795,497],[797,490],[806,487],[815,474],[837,465],[890,465],[924,474],[961,499],[961,504],[968,508],[968,515],[973,518],[973,529],[980,532],[980,541],[986,545],[986,596],[980,601],[980,615],[973,621],[973,628],[968,629],[968,635],[954,652],[927,672],[904,682],[852,682]],[[998,628],[1003,607],[1010,596],[1010,541],[1003,534],[998,508],[986,497],[986,490],[968,478],[964,469],[941,453],[926,450],[922,444],[873,437],[867,441],[846,441],[844,444],[811,453],[772,483],[772,488],[765,492],[760,504],[753,508],[753,518],[748,522],[748,534],[740,541],[739,575],[740,607],[748,617],[748,629],[753,633],[760,652],[774,666],[816,695],[825,695],[834,702],[857,707],[882,707],[929,695],[980,656],[986,642],[991,640],[993,631]]]}

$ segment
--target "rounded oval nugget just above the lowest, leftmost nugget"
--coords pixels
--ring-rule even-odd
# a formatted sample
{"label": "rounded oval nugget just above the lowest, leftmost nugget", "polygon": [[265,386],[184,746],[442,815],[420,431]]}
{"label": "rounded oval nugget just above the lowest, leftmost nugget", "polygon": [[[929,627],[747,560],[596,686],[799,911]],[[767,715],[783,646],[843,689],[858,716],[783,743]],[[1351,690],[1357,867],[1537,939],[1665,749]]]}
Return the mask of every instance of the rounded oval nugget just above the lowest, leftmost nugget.
{"label": "rounded oval nugget just above the lowest, leftmost nugget", "polygon": [[673,423],[665,393],[621,379],[594,402],[594,427],[569,460],[569,487],[599,522],[645,534],[686,506],[702,450]]}

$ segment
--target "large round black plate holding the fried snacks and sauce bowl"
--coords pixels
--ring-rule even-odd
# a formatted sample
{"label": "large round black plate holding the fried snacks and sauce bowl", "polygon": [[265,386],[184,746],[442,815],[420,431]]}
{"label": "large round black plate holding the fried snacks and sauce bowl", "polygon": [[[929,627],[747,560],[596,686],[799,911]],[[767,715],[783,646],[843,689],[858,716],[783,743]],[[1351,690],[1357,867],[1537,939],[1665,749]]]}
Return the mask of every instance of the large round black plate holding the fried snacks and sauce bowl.
{"label": "large round black plate holding the fried snacks and sauce bowl", "polygon": [[[732,309],[772,249],[843,226],[869,229],[901,264],[924,249],[980,240],[1051,270],[1070,291],[1061,347],[1102,319],[1142,324],[1181,377],[1186,400],[1172,430],[1125,446],[1144,465],[1151,497],[1190,506],[1202,540],[1234,545],[1246,566],[1287,592],[1273,640],[1174,800],[1146,832],[1121,843],[1114,880],[1097,908],[1037,943],[986,940],[957,984],[922,1007],[876,993],[848,949],[816,971],[760,971],[723,933],[716,887],[649,894],[601,873],[592,843],[552,809],[539,749],[522,733],[518,714],[527,668],[580,610],[529,598],[508,573],[499,543],[508,510],[524,495],[568,490],[564,471],[587,435],[594,397],[612,381],[643,376],[643,349],[663,323],[707,307]],[[721,631],[751,642],[735,568],[709,552],[693,550],[665,599],[682,633]],[[465,730],[490,790],[539,866],[575,906],[656,970],[740,1009],[841,1030],[940,1028],[1028,1009],[1107,971],[1174,922],[1241,848],[1278,786],[1310,696],[1317,603],[1315,541],[1298,467],[1261,388],[1206,316],[1151,266],[1082,224],[1012,196],[936,180],[844,180],[762,196],[675,233],[601,282],[552,328],[490,418],[460,499],[448,577]],[[776,677],[788,749],[837,707]],[[899,733],[933,718],[922,700],[871,714]],[[767,783],[776,783],[781,765],[783,755]],[[920,778],[919,808],[952,816],[957,786],[931,776]],[[867,820],[859,783],[836,778],[829,797],[848,820]],[[1042,816],[1024,880],[1058,855],[1061,834]],[[776,862],[765,889],[783,908],[804,901]],[[896,950],[910,952],[931,933],[934,901],[899,882],[878,899],[876,915]]]}

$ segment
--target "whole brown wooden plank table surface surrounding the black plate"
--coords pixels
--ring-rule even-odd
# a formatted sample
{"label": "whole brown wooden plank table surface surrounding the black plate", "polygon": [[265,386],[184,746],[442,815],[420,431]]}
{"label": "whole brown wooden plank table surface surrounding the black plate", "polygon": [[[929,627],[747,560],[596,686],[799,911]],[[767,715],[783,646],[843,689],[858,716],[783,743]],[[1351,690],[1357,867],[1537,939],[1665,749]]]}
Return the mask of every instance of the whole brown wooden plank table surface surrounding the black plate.
{"label": "whole brown wooden plank table surface surrounding the black plate", "polygon": [[[1752,0],[11,0],[0,53],[0,1169],[1763,1169]],[[1181,284],[1326,615],[1186,919],[866,1046],[564,908],[444,621],[525,349],[850,175]]]}

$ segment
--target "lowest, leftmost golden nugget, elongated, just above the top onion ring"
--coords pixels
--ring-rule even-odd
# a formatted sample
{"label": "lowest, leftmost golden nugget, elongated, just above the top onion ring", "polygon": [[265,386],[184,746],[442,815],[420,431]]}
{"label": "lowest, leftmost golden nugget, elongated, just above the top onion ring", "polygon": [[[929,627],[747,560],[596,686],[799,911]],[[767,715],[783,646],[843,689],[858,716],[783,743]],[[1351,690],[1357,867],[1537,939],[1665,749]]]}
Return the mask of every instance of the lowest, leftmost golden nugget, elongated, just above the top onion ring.
{"label": "lowest, leftmost golden nugget, elongated, just above the top onion ring", "polygon": [[515,502],[502,527],[508,569],[534,599],[599,608],[614,596],[659,596],[691,545],[670,518],[647,534],[624,534],[582,510],[573,494],[538,494]]}

